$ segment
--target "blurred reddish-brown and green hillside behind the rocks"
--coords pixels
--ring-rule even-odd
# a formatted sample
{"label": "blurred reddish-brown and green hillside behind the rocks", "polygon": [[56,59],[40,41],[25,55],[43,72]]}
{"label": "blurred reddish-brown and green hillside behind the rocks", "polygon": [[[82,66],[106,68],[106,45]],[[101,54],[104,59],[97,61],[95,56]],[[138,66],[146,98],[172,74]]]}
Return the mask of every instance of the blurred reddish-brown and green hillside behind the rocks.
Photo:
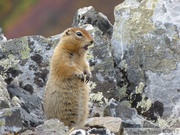
{"label": "blurred reddish-brown and green hillside behind the rocks", "polygon": [[7,39],[49,37],[71,27],[79,8],[93,6],[114,23],[114,7],[123,0],[0,0],[0,27]]}

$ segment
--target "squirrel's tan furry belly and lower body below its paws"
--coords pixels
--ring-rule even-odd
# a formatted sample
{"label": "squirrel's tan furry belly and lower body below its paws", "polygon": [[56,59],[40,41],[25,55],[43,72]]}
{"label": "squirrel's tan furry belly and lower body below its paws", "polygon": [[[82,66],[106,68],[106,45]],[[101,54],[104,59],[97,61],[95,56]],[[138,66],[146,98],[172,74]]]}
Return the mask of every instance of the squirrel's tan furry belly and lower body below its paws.
{"label": "squirrel's tan furry belly and lower body below its paws", "polygon": [[49,86],[44,101],[47,118],[58,118],[69,127],[83,126],[88,117],[88,84],[67,80]]}

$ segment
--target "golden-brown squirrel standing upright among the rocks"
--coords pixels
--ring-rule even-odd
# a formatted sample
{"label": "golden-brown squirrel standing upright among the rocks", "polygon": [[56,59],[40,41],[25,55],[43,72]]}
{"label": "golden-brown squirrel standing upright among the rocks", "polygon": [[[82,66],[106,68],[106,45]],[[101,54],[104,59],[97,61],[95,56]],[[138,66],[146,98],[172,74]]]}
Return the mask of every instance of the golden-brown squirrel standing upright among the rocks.
{"label": "golden-brown squirrel standing upright among the rocks", "polygon": [[44,112],[48,119],[58,118],[69,128],[83,127],[88,118],[91,72],[86,52],[93,42],[86,30],[69,28],[51,58]]}

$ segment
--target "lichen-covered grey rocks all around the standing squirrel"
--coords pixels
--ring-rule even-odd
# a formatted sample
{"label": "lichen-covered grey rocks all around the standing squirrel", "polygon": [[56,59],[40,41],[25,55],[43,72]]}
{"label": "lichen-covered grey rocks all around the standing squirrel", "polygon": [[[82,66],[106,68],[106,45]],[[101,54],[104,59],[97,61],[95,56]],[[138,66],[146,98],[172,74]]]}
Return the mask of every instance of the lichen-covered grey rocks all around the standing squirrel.
{"label": "lichen-covered grey rocks all around the standing squirrel", "polygon": [[[77,11],[72,26],[95,40],[88,54],[88,134],[180,134],[179,5],[127,0],[115,7],[114,25],[93,7]],[[42,109],[49,59],[60,37],[0,42],[0,134],[68,134],[60,121],[45,120]],[[84,130],[70,134],[79,132]]]}

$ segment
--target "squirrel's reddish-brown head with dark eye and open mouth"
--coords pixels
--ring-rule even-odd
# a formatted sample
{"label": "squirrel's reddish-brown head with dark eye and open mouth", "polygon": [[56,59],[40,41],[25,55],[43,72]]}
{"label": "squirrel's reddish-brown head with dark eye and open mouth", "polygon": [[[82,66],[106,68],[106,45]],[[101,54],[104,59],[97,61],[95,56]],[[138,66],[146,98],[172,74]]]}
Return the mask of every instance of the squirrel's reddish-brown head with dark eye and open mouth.
{"label": "squirrel's reddish-brown head with dark eye and open mouth", "polygon": [[62,36],[62,42],[67,43],[69,49],[74,50],[87,50],[88,47],[93,44],[94,40],[88,31],[82,28],[68,28],[64,31]]}

